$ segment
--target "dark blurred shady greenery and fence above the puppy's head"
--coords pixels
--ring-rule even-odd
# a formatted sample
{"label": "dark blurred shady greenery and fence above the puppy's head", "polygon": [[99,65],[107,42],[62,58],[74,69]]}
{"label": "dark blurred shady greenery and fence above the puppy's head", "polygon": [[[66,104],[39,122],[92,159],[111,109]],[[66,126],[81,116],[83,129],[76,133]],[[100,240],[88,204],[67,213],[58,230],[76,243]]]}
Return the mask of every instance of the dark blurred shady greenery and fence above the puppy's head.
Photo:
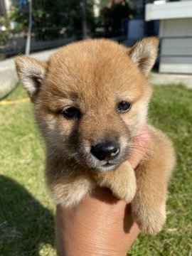
{"label": "dark blurred shady greenery and fence above the puppy's head", "polygon": [[[126,0],[1,0],[0,54],[23,53],[31,16],[31,51],[63,46],[85,38],[113,38],[132,44],[134,38],[158,34],[159,22],[144,22],[145,5],[153,1]],[[130,42],[129,42],[130,41]]]}

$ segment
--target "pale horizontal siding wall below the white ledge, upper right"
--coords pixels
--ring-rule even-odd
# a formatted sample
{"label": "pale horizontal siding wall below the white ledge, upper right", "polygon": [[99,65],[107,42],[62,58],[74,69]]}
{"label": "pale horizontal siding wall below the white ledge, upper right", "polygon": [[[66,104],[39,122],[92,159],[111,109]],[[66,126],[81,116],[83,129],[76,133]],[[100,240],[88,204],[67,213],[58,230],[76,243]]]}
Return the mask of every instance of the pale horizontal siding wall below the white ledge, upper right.
{"label": "pale horizontal siding wall below the white ledge, upper right", "polygon": [[192,73],[192,18],[161,21],[162,73]]}

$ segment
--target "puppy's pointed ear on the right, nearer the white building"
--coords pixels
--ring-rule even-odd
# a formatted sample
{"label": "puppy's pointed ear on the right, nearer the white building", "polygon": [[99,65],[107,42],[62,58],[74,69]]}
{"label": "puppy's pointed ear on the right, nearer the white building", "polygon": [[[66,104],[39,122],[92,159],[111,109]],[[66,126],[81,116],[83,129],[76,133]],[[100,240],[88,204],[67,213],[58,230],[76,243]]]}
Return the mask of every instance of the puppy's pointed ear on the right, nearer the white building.
{"label": "puppy's pointed ear on the right, nearer the white building", "polygon": [[158,53],[158,44],[157,38],[144,38],[129,50],[130,58],[145,76],[149,74],[149,71],[155,63]]}

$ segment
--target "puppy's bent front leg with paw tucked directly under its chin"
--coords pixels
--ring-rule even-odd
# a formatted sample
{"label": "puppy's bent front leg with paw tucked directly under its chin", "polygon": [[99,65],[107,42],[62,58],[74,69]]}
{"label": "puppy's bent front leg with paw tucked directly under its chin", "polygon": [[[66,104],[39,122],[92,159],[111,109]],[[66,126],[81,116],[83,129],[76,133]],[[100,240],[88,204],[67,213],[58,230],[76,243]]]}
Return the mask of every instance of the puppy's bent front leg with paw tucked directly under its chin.
{"label": "puppy's bent front leg with paw tucked directly under its chin", "polygon": [[114,196],[127,203],[132,201],[136,193],[136,178],[129,161],[115,171],[97,174],[95,180],[99,186],[110,188]]}

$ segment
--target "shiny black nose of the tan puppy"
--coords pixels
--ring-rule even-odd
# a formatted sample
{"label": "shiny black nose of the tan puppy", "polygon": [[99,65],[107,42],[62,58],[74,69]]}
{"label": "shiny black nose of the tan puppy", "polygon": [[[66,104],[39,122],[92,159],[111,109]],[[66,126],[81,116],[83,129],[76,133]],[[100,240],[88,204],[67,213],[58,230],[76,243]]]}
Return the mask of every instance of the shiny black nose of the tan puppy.
{"label": "shiny black nose of the tan puppy", "polygon": [[100,161],[110,160],[119,154],[119,146],[115,142],[103,142],[92,146],[91,153]]}

